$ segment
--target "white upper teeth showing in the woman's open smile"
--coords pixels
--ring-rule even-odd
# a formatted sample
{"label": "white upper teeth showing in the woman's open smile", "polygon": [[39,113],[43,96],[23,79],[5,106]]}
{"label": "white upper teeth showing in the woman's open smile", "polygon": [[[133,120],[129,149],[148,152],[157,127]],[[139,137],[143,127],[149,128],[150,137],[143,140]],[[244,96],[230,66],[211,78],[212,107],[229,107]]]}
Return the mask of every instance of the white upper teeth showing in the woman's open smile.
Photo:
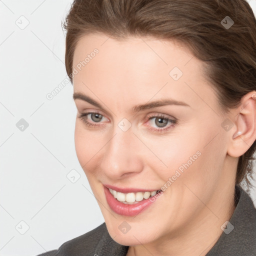
{"label": "white upper teeth showing in the woman's open smile", "polygon": [[113,195],[114,198],[116,198],[118,201],[131,204],[136,203],[138,201],[142,201],[143,199],[147,199],[150,196],[153,196],[156,194],[158,190],[155,191],[146,191],[146,192],[136,192],[136,193],[121,193],[117,192],[111,188],[108,188],[110,193]]}

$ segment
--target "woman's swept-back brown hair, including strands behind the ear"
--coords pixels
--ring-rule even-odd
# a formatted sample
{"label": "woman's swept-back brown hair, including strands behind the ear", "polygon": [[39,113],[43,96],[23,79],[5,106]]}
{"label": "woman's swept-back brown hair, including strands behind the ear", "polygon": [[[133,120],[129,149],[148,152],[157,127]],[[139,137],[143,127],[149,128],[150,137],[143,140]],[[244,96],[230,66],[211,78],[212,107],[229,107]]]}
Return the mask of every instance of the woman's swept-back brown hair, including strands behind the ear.
{"label": "woman's swept-back brown hair, including strands behind the ear", "polygon": [[[226,16],[234,22],[231,27],[224,27]],[[256,89],[256,20],[245,0],[74,0],[62,26],[71,83],[77,41],[102,32],[116,39],[140,35],[183,43],[203,61],[223,112],[239,106],[241,97]],[[235,183],[244,178],[247,191],[255,146],[254,141],[237,164]]]}

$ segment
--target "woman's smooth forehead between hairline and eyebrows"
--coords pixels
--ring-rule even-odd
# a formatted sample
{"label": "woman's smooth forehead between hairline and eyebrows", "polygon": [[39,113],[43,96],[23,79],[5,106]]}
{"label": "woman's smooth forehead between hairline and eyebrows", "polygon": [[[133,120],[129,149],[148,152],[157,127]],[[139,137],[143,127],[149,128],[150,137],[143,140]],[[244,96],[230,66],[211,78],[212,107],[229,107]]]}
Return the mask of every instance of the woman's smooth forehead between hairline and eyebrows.
{"label": "woman's smooth forehead between hairline and eyebrows", "polygon": [[215,104],[202,62],[177,41],[84,35],[75,47],[73,68],[78,71],[73,76],[76,92],[93,95],[94,91],[97,96],[109,95],[134,104],[168,95],[190,101],[189,105],[204,105],[203,98]]}

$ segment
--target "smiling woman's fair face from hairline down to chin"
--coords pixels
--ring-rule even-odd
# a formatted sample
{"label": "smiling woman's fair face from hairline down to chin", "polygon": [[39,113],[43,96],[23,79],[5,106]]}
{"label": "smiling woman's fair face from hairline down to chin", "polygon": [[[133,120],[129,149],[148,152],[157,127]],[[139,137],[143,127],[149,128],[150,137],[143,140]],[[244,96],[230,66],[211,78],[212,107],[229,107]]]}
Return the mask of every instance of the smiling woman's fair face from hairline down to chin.
{"label": "smiling woman's fair face from hairline down to chin", "polygon": [[[123,245],[145,244],[216,221],[225,177],[233,173],[224,164],[233,130],[222,128],[226,117],[202,62],[177,42],[89,34],[76,45],[73,68],[76,154],[111,237]],[[169,102],[138,107],[164,100]],[[123,202],[120,209],[108,192],[115,200],[110,207],[104,185],[163,192],[138,212]]]}

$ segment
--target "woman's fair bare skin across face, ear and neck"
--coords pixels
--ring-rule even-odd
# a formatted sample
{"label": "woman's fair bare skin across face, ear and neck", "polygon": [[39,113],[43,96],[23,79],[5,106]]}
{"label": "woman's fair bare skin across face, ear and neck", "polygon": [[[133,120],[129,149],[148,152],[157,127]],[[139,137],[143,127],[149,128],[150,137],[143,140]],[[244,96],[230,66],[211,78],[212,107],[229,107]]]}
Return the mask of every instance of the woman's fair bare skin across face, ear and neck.
{"label": "woman's fair bare skin across face, ear and neck", "polygon": [[[73,76],[73,88],[103,109],[74,100],[75,149],[110,236],[129,245],[129,256],[205,255],[235,209],[237,157],[255,140],[255,92],[246,94],[237,109],[223,113],[215,90],[203,76],[202,62],[183,45],[152,37],[118,41],[100,33],[88,34],[76,45],[73,67],[94,48],[98,53]],[[169,75],[173,67],[183,72],[178,80]],[[132,112],[137,104],[163,98],[189,106]],[[79,117],[90,111],[103,115],[84,117],[95,127],[86,126]],[[177,123],[160,126],[157,117],[149,119],[157,114]],[[127,131],[118,126],[123,118],[131,124]],[[221,126],[226,118],[233,123],[228,131]],[[150,130],[168,127],[165,132]],[[242,134],[235,135],[237,131]],[[136,216],[118,215],[110,209],[102,183],[161,189],[197,151],[200,155],[147,209]],[[118,228],[123,221],[131,227],[125,234]]]}

